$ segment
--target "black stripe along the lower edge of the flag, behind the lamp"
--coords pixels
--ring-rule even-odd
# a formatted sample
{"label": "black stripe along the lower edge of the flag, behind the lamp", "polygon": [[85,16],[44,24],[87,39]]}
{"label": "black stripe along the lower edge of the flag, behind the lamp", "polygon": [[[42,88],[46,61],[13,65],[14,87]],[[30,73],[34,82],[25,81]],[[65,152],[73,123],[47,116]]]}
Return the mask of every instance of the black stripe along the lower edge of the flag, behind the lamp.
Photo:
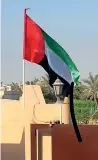
{"label": "black stripe along the lower edge of the flag, behind the lamp", "polygon": [[39,63],[40,66],[42,66],[44,68],[44,70],[48,73],[49,75],[49,84],[51,87],[53,87],[53,83],[55,82],[55,80],[57,78],[59,78],[61,80],[61,82],[64,84],[63,86],[63,91],[62,91],[62,95],[65,97],[67,97],[70,94],[70,84],[64,80],[62,77],[60,77],[59,75],[57,75],[49,66],[48,60],[46,55],[44,56],[43,60]]}

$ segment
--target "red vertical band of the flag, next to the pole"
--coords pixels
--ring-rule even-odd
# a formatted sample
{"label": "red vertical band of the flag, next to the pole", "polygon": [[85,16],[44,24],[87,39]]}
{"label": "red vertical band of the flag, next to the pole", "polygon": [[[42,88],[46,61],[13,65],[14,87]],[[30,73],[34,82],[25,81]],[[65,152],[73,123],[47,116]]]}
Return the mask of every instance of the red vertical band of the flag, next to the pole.
{"label": "red vertical band of the flag, next to the pole", "polygon": [[39,63],[45,54],[41,28],[24,11],[23,59]]}

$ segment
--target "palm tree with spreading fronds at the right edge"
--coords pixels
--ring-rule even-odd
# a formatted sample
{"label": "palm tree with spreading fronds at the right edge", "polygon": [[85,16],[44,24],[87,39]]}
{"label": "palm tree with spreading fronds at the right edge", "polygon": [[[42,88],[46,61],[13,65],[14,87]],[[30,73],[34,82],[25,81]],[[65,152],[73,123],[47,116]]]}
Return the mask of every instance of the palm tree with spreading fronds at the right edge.
{"label": "palm tree with spreading fronds at the right edge", "polygon": [[84,95],[87,99],[94,100],[98,106],[98,74],[93,76],[89,73],[89,78],[83,81],[86,84]]}

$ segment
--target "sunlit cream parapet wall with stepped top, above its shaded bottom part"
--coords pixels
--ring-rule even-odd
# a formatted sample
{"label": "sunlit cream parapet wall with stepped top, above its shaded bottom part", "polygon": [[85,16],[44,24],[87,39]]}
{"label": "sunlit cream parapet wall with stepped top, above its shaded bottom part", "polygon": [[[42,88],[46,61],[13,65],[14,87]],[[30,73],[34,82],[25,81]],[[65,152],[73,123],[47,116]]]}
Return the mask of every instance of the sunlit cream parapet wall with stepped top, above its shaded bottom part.
{"label": "sunlit cream parapet wall with stepped top, above its shaded bottom part", "polygon": [[20,143],[25,124],[59,119],[59,106],[46,104],[38,85],[25,85],[20,100],[2,99],[1,104],[1,143]]}

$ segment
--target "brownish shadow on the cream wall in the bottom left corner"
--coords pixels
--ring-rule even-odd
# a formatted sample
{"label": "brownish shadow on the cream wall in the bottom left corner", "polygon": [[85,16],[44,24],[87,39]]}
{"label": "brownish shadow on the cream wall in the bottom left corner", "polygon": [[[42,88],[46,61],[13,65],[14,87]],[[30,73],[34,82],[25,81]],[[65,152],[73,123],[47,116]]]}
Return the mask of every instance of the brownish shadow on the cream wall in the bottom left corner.
{"label": "brownish shadow on the cream wall in the bottom left corner", "polygon": [[25,160],[25,136],[24,132],[20,144],[1,144],[2,160]]}

